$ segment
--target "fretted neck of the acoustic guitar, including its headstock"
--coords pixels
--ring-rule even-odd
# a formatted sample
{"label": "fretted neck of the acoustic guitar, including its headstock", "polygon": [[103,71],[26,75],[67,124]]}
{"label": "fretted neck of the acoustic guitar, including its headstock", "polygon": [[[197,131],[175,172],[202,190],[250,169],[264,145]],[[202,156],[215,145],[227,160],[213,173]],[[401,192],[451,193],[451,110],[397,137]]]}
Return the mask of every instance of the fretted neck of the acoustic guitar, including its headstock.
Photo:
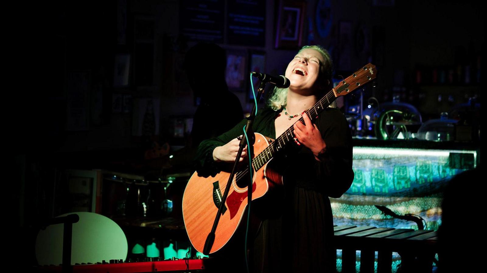
{"label": "fretted neck of the acoustic guitar, including its headstock", "polygon": [[[345,96],[359,86],[367,84],[375,79],[376,74],[377,70],[375,69],[375,65],[370,63],[365,65],[341,81],[335,88],[331,89],[330,92],[315,103],[313,107],[304,112],[311,119],[311,121],[314,121],[316,118],[318,118],[318,114],[328,107],[332,102],[334,102],[337,97]],[[300,117],[300,119],[298,119],[296,122],[304,123],[304,119]],[[294,126],[291,126],[284,131],[281,136],[277,137],[274,142],[267,146],[267,148],[265,148],[260,154],[254,157],[252,160],[254,170],[259,170],[262,168],[262,166],[264,166],[265,163],[274,157],[276,153],[281,151],[287,143],[294,141],[294,137]]]}

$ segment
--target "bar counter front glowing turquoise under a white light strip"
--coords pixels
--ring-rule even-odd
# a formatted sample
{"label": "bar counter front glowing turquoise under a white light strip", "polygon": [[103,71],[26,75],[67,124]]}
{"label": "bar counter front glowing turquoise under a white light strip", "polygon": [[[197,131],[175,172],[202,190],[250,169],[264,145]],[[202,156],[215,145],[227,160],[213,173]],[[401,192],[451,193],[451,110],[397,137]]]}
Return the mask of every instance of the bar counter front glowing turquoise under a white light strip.
{"label": "bar counter front glowing turquoise under a white light strip", "polygon": [[332,202],[335,225],[414,228],[415,222],[384,215],[383,205],[399,215],[413,214],[425,229],[441,223],[442,192],[455,174],[475,168],[480,145],[468,142],[354,138],[350,189]]}

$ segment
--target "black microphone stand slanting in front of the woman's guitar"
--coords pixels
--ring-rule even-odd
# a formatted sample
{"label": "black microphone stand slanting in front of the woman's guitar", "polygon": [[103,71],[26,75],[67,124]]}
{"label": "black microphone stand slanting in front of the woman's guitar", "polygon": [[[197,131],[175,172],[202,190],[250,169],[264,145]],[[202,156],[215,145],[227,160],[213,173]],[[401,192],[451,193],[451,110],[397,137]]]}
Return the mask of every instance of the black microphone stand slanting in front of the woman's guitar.
{"label": "black microphone stand slanting in front of the woman's guitar", "polygon": [[[259,104],[262,93],[264,92],[264,87],[265,87],[265,82],[261,81],[261,84],[259,85],[258,93],[257,93],[257,105]],[[248,156],[252,156],[253,154],[253,145],[255,142],[255,136],[254,132],[252,130],[252,124],[254,123],[255,119],[255,111],[257,110],[257,106],[254,104],[254,107],[252,111],[250,112],[250,116],[247,118],[247,124],[245,126],[245,133],[247,136],[249,136],[249,147],[247,147],[247,154]],[[222,210],[225,207],[225,201],[226,197],[228,196],[228,192],[230,191],[230,186],[233,182],[233,177],[235,176],[235,173],[237,171],[237,166],[239,163],[240,156],[242,155],[242,151],[244,150],[244,147],[246,145],[246,137],[245,134],[242,136],[242,139],[240,140],[239,144],[239,151],[237,152],[237,157],[235,158],[235,162],[233,163],[233,168],[232,172],[230,173],[230,177],[228,178],[228,182],[226,183],[225,187],[225,192],[223,193],[222,196],[222,202],[220,203],[220,207],[218,208],[218,212],[215,217],[215,221],[213,222],[213,226],[211,227],[211,231],[206,237],[205,241],[205,246],[203,247],[203,254],[208,255],[210,253],[211,247],[213,246],[213,243],[215,242],[215,231],[218,226],[218,222],[220,221],[220,216],[222,215]],[[249,166],[249,168],[252,168],[252,166]],[[248,187],[247,187],[247,205],[250,205],[250,201],[252,201],[252,183],[253,179],[251,177],[250,181],[248,182]],[[250,189],[250,190],[249,190]],[[249,258],[249,260],[251,260]]]}

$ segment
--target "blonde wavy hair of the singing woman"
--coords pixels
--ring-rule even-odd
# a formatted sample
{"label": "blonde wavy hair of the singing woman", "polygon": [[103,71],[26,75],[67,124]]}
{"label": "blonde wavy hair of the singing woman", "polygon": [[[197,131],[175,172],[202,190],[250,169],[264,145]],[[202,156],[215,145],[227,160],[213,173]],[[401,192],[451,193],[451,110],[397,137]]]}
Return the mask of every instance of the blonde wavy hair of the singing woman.
{"label": "blonde wavy hair of the singing woman", "polygon": [[[324,49],[321,46],[318,45],[313,45],[313,46],[304,46],[300,49],[299,52],[305,49],[314,49],[321,53],[323,56],[323,59],[325,60],[325,63],[320,69],[320,75],[319,78],[325,77],[326,80],[328,80],[328,85],[322,89],[319,94],[318,94],[318,99],[321,98],[321,96],[324,96],[324,93],[331,88],[333,88],[333,82],[332,82],[332,73],[333,73],[333,61],[332,57],[330,56],[330,53]],[[278,88],[274,87],[274,92],[270,96],[270,98],[267,100],[267,106],[269,106],[271,109],[274,111],[280,110],[282,107],[286,106],[287,104],[287,88]],[[336,102],[332,102],[330,106],[328,107],[337,107]]]}

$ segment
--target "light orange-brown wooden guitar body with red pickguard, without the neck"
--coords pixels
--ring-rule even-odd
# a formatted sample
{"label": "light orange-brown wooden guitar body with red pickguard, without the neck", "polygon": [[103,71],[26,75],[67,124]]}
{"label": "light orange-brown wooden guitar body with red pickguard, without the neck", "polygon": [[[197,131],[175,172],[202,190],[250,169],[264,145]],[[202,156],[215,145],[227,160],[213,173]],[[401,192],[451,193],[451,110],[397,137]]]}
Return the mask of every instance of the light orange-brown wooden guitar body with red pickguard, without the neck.
{"label": "light orange-brown wooden guitar body with red pickguard, without the neck", "polygon": [[[271,139],[256,133],[253,146],[254,155],[260,154],[269,145],[269,140]],[[282,176],[268,168],[270,162],[267,162],[263,168],[252,173],[252,200],[262,197],[269,188],[282,185]],[[240,173],[238,171],[235,175],[228,192],[225,208],[218,222],[215,241],[210,253],[221,249],[228,242],[237,230],[244,215],[244,210],[247,206],[248,188],[244,185],[248,184],[247,179],[250,177],[246,175],[247,179],[241,179],[242,181],[237,183],[235,178]],[[208,177],[200,176],[198,172],[195,172],[187,183],[183,195],[183,219],[189,240],[199,252],[203,252],[206,237],[213,226],[218,205],[220,205],[229,177],[230,173],[226,171],[221,171],[215,176]]]}

